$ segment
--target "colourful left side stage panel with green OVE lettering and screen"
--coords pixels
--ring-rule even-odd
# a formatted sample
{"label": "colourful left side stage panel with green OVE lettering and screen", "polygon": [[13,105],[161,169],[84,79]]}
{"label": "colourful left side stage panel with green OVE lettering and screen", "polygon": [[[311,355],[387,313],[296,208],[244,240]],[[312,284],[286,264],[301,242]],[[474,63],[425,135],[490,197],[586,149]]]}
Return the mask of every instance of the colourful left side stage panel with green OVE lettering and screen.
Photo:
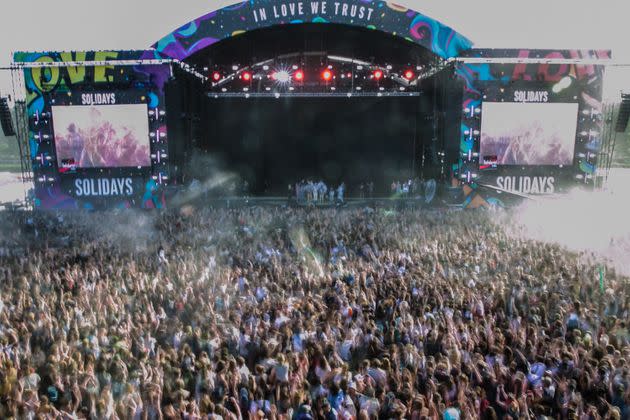
{"label": "colourful left side stage panel with green OVE lettering and screen", "polygon": [[[14,55],[16,63],[42,63],[24,68],[37,208],[164,205],[162,187],[169,179],[164,87],[171,68],[140,64],[160,58],[155,51]],[[90,65],[93,61],[107,65]]]}

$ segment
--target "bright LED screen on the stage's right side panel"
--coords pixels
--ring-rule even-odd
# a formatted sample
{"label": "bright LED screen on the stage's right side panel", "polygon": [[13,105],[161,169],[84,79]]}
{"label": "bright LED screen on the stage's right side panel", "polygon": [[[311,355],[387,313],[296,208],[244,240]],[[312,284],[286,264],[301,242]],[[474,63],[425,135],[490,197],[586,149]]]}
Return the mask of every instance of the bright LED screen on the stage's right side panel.
{"label": "bright LED screen on the stage's right side panel", "polygon": [[497,165],[570,165],[577,113],[577,103],[484,102],[480,161]]}

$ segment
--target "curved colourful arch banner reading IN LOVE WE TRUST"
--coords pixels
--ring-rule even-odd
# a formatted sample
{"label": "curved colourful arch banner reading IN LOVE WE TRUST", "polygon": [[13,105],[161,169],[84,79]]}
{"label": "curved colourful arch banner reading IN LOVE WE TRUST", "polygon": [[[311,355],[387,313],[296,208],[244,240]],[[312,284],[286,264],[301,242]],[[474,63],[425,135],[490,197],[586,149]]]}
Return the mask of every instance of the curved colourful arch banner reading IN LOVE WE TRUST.
{"label": "curved colourful arch banner reading IN LOVE WE TRUST", "polygon": [[320,23],[359,26],[415,42],[442,58],[456,57],[472,42],[452,28],[395,3],[370,0],[248,0],[215,10],[157,41],[153,48],[185,60],[220,40],[274,25]]}

